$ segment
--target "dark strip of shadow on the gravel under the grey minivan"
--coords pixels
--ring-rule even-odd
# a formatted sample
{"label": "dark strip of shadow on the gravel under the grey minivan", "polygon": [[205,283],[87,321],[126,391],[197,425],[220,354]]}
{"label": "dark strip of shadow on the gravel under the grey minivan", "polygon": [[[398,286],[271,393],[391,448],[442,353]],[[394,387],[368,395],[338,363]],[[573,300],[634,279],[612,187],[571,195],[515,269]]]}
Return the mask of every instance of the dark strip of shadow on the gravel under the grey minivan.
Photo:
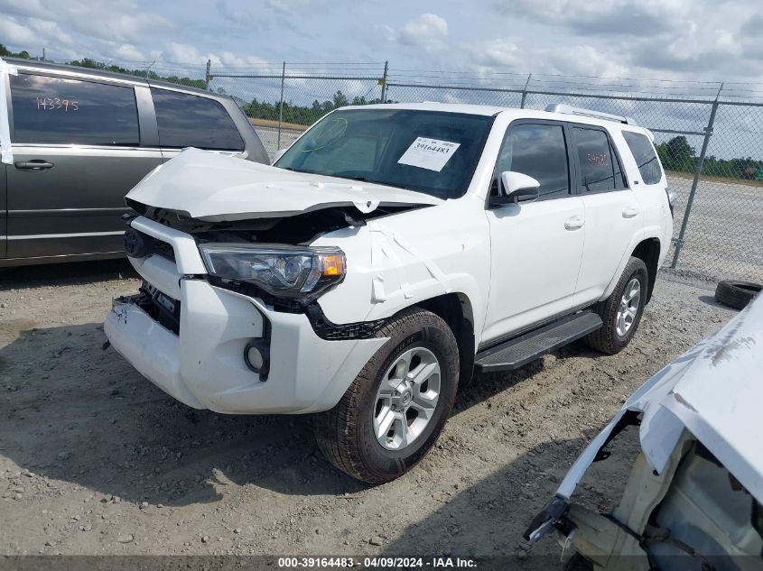
{"label": "dark strip of shadow on the gravel under the grey minivan", "polygon": [[49,263],[3,268],[0,271],[0,291],[79,285],[122,278],[137,278],[137,273],[126,258],[98,262]]}

